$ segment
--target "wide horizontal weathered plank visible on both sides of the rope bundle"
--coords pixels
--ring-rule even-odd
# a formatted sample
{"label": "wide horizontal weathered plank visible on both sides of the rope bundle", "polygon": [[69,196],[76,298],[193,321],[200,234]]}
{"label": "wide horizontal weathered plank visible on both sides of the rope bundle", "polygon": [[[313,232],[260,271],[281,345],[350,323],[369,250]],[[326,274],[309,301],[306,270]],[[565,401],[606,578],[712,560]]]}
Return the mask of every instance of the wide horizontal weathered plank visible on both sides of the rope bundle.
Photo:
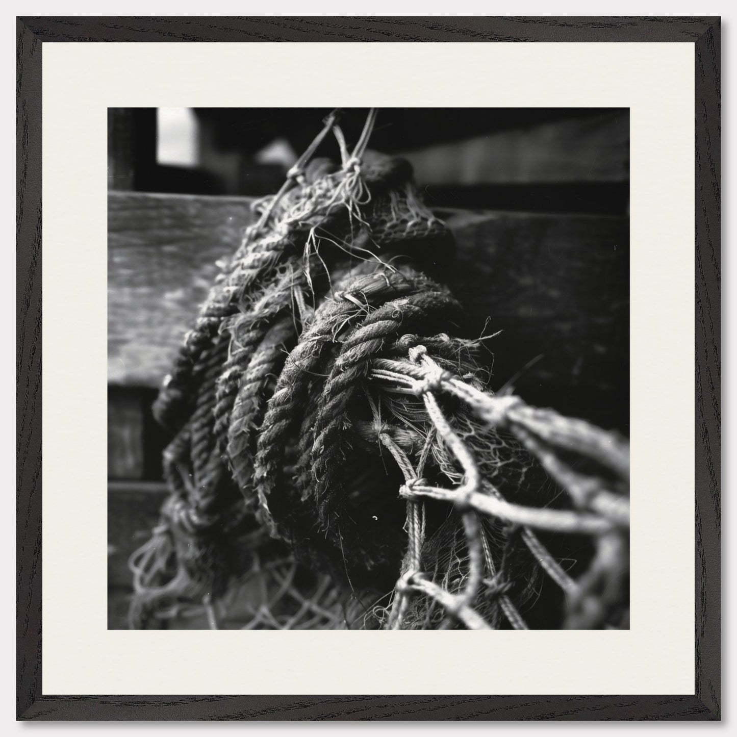
{"label": "wide horizontal weathered plank visible on both sides of the rope bundle", "polygon": [[[156,386],[249,222],[248,200],[111,193],[108,378]],[[626,218],[464,214],[448,282],[471,334],[489,343],[492,388],[626,430],[629,225]],[[492,357],[489,357],[492,363]]]}

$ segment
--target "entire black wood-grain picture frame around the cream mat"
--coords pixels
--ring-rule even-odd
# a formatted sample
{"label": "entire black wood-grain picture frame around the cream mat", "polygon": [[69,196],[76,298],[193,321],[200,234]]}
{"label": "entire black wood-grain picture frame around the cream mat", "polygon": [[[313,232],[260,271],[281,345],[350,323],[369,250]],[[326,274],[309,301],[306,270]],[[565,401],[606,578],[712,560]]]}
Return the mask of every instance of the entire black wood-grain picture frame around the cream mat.
{"label": "entire black wood-grain picture frame around the cream mat", "polygon": [[[41,69],[57,41],[680,42],[694,46],[695,673],[691,695],[64,696],[41,682]],[[36,720],[720,719],[719,18],[17,19],[17,716]]]}

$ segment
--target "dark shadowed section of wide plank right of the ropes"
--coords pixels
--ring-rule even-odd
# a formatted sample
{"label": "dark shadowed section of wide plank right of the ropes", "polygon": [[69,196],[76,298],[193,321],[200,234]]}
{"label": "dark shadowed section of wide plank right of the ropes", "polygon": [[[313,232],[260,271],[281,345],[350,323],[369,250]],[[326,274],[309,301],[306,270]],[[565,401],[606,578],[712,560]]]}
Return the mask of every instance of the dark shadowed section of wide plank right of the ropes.
{"label": "dark shadowed section of wide plank right of the ropes", "polygon": [[[629,430],[629,219],[465,215],[447,281],[472,335],[501,335],[491,386]],[[488,324],[486,320],[488,318]],[[525,369],[528,363],[536,361]]]}

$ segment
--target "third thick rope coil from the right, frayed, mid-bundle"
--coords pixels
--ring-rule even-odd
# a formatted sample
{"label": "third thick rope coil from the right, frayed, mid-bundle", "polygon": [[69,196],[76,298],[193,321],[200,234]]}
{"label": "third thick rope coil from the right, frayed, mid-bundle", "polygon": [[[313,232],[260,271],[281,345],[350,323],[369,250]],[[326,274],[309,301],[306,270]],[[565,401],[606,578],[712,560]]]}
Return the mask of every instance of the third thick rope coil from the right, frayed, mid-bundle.
{"label": "third thick rope coil from the right, frayed, mid-bundle", "polygon": [[227,453],[231,472],[245,503],[254,503],[254,438],[266,405],[263,390],[279,374],[287,357],[287,344],[295,335],[294,321],[283,318],[274,324],[251,356],[240,379],[228,425]]}

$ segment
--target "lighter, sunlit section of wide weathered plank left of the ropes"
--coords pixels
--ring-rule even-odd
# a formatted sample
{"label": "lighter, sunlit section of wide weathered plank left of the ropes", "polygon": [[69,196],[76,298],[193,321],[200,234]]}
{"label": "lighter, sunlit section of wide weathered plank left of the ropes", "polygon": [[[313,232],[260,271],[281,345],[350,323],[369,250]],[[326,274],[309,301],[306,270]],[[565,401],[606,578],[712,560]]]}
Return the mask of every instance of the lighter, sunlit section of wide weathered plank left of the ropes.
{"label": "lighter, sunlit section of wide weathered plank left of the ropes", "polygon": [[108,382],[158,386],[215,262],[251,222],[242,198],[108,195]]}

